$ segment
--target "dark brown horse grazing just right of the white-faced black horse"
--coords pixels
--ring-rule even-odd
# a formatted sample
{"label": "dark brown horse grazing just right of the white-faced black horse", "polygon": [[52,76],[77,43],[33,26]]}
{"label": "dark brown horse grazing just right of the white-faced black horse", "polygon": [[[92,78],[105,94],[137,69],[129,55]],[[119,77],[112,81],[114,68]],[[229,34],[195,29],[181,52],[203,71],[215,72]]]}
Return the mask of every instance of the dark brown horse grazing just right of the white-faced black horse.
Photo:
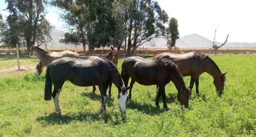
{"label": "dark brown horse grazing just right of the white-faced black horse", "polygon": [[131,99],[131,90],[135,82],[149,86],[159,86],[155,105],[159,107],[159,98],[163,98],[163,106],[168,109],[166,104],[165,85],[172,81],[178,90],[177,98],[181,105],[188,107],[190,97],[190,88],[186,87],[181,72],[178,67],[170,60],[157,58],[156,60],[146,60],[141,57],[126,58],[122,64],[121,76],[125,86],[128,86],[131,77],[129,99]]}

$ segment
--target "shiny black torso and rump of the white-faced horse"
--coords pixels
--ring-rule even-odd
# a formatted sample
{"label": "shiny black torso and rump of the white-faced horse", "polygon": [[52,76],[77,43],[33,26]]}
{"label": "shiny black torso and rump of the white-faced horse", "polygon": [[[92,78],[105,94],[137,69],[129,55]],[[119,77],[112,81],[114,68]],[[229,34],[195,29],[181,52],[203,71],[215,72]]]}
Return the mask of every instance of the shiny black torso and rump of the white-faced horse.
{"label": "shiny black torso and rump of the white-faced horse", "polygon": [[[102,60],[91,61],[76,58],[61,58],[50,64],[53,83],[60,84],[69,80],[77,86],[93,86],[109,80],[109,66]],[[52,78],[52,77],[51,77]]]}

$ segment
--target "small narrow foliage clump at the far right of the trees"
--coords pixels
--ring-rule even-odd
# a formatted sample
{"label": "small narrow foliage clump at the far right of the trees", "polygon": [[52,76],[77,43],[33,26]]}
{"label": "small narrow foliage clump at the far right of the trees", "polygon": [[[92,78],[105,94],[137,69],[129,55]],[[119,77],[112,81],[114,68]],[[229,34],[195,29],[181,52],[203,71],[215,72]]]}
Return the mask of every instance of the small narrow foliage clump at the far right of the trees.
{"label": "small narrow foliage clump at the far right of the trees", "polygon": [[179,39],[178,26],[178,20],[172,17],[169,21],[169,27],[167,28],[165,35],[169,49],[172,49],[172,47],[175,46],[176,40]]}

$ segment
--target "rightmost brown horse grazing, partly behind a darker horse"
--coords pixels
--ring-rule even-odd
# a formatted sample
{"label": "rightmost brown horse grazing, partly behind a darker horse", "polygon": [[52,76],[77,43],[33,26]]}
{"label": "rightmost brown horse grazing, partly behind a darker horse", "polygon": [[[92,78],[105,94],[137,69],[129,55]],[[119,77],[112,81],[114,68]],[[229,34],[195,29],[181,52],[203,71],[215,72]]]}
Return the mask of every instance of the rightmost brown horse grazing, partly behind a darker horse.
{"label": "rightmost brown horse grazing, partly behind a darker horse", "polygon": [[222,95],[226,81],[226,73],[221,73],[217,64],[207,55],[199,52],[189,52],[185,54],[165,52],[156,55],[153,60],[159,57],[167,58],[176,63],[183,76],[191,76],[190,87],[192,89],[194,83],[196,83],[196,94],[199,94],[199,75],[206,72],[213,77],[213,84],[216,90],[219,91],[219,95]]}

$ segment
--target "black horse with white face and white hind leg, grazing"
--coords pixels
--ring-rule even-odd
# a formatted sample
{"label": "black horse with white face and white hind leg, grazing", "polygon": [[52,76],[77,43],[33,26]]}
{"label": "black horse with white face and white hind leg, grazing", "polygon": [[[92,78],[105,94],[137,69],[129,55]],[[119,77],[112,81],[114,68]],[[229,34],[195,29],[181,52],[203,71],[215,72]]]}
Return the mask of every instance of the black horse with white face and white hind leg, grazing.
{"label": "black horse with white face and white hind leg, grazing", "polygon": [[[118,102],[120,112],[126,111],[126,100],[128,97],[127,89],[123,79],[121,78],[116,64],[105,58],[98,58],[94,60],[81,60],[75,58],[61,58],[51,62],[47,66],[45,81],[45,100],[51,100],[53,96],[55,109],[62,114],[59,105],[59,93],[62,85],[66,80],[72,84],[87,87],[97,85],[102,97],[102,110],[106,112],[106,93],[107,87],[110,83],[114,83],[118,88]],[[54,84],[53,94],[51,94],[51,86]]]}

